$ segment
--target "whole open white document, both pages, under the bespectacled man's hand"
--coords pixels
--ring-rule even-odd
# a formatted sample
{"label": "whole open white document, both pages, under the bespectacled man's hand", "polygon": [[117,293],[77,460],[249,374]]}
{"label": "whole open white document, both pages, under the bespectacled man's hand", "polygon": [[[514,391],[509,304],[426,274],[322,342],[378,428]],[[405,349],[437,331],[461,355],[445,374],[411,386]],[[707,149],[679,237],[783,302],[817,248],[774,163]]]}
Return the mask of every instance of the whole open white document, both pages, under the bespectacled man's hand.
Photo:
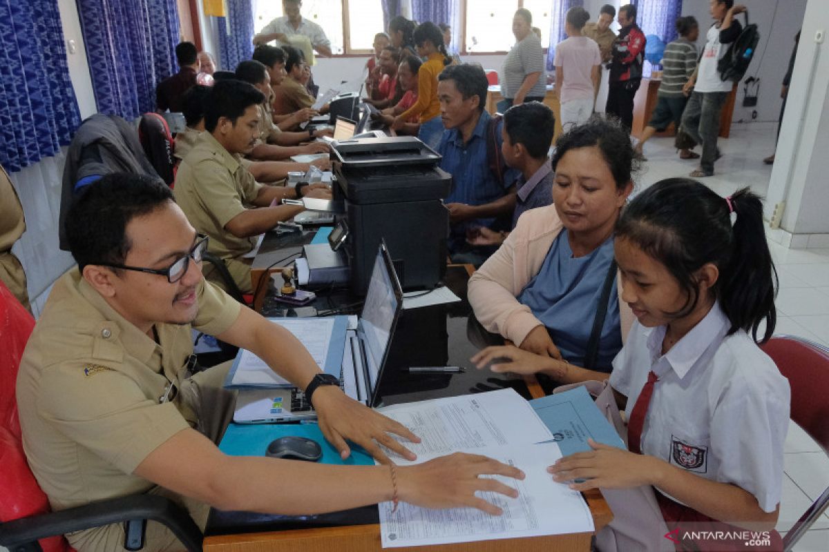
{"label": "whole open white document, both pages, under the bespectacled man's hand", "polygon": [[[495,492],[478,497],[496,504],[502,516],[474,508],[431,510],[401,503],[392,513],[380,505],[381,539],[385,548],[438,545],[594,530],[589,506],[579,492],[554,482],[546,468],[561,457],[553,434],[527,401],[512,389],[448,397],[378,409],[417,434],[422,442],[406,443],[422,463],[444,454],[484,454],[520,468],[526,479],[497,477],[517,488],[517,498]],[[546,441],[546,442],[542,442]]]}

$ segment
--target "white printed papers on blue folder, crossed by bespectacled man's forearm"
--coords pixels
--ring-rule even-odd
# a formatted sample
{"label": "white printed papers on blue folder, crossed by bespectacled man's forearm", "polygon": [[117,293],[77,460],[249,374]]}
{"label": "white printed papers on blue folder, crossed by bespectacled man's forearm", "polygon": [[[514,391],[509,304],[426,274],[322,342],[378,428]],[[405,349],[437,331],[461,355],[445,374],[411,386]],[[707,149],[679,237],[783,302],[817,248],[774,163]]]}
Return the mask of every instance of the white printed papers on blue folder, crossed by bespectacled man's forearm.
{"label": "white printed papers on blue folder, crossed by bespectacled man's forearm", "polygon": [[[320,370],[325,370],[325,359],[334,330],[333,318],[284,318],[269,319],[287,329],[303,343]],[[268,364],[254,353],[242,350],[239,367],[230,381],[233,386],[293,386],[284,377],[274,372]]]}

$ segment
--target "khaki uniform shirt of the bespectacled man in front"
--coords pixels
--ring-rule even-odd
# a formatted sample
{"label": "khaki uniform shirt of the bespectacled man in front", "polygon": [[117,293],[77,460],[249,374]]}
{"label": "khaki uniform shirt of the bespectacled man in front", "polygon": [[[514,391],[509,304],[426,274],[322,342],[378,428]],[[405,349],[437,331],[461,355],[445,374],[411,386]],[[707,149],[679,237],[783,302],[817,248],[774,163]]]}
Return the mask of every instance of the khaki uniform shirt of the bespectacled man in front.
{"label": "khaki uniform shirt of the bespectacled man in front", "polygon": [[[241,305],[202,282],[192,326],[225,332]],[[155,324],[158,343],[128,322],[77,268],[56,282],[20,362],[23,447],[54,510],[148,492],[133,475],[172,435],[196,425],[183,404],[191,324]]]}

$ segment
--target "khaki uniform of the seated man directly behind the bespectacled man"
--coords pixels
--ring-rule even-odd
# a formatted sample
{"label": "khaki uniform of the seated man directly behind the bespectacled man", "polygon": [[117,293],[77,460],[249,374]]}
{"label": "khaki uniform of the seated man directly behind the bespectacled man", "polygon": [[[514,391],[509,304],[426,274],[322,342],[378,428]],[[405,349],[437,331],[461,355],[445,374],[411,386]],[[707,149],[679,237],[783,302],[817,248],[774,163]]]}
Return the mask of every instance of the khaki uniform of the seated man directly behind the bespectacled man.
{"label": "khaki uniform of the seated man directly behind the bespectacled man", "polygon": [[[237,214],[249,209],[262,185],[254,180],[239,156],[225,150],[210,132],[202,132],[196,146],[178,167],[173,195],[187,219],[199,233],[210,238],[208,251],[225,259],[230,275],[242,293],[250,293],[250,252],[256,237],[236,238],[225,229]],[[205,276],[220,287],[221,278],[204,263]]]}

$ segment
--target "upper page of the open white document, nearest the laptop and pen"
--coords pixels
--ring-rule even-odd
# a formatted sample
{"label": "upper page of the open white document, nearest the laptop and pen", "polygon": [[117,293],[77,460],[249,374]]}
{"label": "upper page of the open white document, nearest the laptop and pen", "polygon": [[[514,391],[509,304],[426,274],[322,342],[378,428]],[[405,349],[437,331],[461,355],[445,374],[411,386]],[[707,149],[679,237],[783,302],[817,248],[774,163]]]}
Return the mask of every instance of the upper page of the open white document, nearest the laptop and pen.
{"label": "upper page of the open white document, nearest the laptop and pen", "polygon": [[[385,406],[377,411],[405,425],[421,439],[420,443],[401,439],[418,458],[553,439],[530,403],[509,388]],[[400,465],[420,462],[406,460],[389,449],[385,453]]]}

